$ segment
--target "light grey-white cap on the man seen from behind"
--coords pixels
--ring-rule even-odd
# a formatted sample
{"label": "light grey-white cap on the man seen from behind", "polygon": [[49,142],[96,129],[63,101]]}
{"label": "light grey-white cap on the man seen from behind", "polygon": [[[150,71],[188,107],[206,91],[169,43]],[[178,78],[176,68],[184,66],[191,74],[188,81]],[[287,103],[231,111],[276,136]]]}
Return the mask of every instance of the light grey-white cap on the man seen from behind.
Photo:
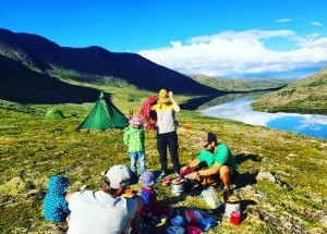
{"label": "light grey-white cap on the man seen from behind", "polygon": [[119,189],[130,185],[132,172],[129,167],[119,164],[110,168],[106,176],[109,178],[110,187]]}

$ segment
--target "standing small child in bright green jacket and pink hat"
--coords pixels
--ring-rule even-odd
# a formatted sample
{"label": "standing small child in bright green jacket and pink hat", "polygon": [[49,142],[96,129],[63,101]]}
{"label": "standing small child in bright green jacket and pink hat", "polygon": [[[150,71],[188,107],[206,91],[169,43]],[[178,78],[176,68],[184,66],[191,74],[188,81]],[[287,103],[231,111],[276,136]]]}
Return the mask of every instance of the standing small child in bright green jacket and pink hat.
{"label": "standing small child in bright green jacket and pink hat", "polygon": [[124,133],[124,144],[129,146],[129,153],[131,158],[131,171],[137,174],[136,161],[138,160],[141,175],[145,172],[145,147],[144,147],[144,130],[143,123],[138,115],[134,115],[130,120],[130,126]]}

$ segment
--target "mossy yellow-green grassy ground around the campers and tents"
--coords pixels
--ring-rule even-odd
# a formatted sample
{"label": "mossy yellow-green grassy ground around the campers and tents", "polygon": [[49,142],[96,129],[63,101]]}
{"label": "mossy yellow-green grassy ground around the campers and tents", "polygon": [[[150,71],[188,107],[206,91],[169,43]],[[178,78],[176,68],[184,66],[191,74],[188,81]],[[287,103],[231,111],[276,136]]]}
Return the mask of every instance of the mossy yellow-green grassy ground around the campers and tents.
{"label": "mossy yellow-green grassy ground around the campers and tents", "polygon": [[[140,110],[148,93],[112,90],[112,102],[124,113]],[[126,101],[133,95],[133,101]],[[185,97],[179,97],[184,100]],[[80,118],[46,121],[51,106],[0,102],[0,230],[2,233],[64,233],[64,223],[49,223],[41,212],[47,181],[52,175],[70,180],[70,189],[85,184],[98,189],[101,172],[117,163],[129,164],[122,131],[81,133],[75,128],[92,104],[57,106]],[[137,112],[136,111],[136,112]],[[195,111],[177,115],[179,155],[184,164],[196,157],[205,131],[230,146],[241,170],[243,221],[239,226],[218,213],[221,224],[211,233],[325,233],[327,232],[327,141],[282,131],[203,116]],[[187,127],[185,127],[187,126]],[[191,128],[190,128],[191,127]],[[204,128],[204,130],[203,130]],[[147,168],[159,171],[155,132],[146,132]],[[172,168],[171,163],[169,164]],[[275,182],[256,181],[270,172]],[[133,185],[138,190],[140,185]],[[203,198],[184,194],[172,197],[169,187],[157,185],[167,206],[208,209]],[[217,190],[217,195],[220,193]],[[164,232],[166,226],[158,229]]]}

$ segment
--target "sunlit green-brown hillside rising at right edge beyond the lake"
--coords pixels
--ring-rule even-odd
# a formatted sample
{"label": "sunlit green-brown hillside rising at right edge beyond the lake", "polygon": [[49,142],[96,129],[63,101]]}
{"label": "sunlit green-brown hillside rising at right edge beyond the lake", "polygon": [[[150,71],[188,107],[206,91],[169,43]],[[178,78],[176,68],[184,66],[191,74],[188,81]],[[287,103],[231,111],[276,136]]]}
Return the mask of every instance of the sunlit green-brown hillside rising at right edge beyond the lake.
{"label": "sunlit green-brown hillside rising at right edge beyond the lake", "polygon": [[327,66],[278,91],[262,96],[255,110],[327,114]]}

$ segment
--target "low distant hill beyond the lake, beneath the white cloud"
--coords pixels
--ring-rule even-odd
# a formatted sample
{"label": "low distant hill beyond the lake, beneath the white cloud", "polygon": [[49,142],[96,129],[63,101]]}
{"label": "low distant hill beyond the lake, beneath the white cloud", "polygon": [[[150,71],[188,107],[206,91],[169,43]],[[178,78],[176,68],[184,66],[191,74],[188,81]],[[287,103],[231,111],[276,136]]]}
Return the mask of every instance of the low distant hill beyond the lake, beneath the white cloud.
{"label": "low distant hill beyond the lake, beneath the white cloud", "polygon": [[255,91],[284,87],[293,79],[282,78],[219,78],[206,75],[190,75],[194,81],[226,91]]}

